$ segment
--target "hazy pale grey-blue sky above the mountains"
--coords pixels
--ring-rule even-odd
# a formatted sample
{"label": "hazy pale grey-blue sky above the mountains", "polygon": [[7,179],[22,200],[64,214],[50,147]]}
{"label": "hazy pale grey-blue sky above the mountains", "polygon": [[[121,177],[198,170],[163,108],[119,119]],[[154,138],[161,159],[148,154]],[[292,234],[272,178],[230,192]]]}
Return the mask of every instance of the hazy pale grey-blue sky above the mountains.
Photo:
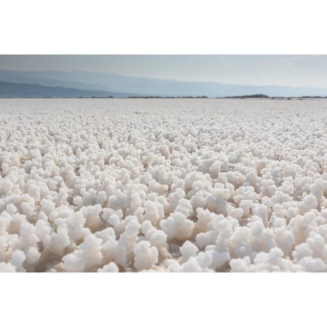
{"label": "hazy pale grey-blue sky above the mountains", "polygon": [[327,55],[1,55],[0,69],[327,87]]}

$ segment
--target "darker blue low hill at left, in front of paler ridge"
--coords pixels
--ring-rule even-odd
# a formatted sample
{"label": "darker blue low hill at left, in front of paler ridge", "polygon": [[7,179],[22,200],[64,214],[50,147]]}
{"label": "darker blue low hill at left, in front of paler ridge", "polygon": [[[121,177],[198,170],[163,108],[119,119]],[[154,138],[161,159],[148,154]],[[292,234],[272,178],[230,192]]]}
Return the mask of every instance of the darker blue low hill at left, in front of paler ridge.
{"label": "darker blue low hill at left, in front of paler ridge", "polygon": [[127,98],[131,93],[83,90],[72,87],[44,86],[40,84],[11,83],[0,81],[0,98],[79,98],[115,97]]}

